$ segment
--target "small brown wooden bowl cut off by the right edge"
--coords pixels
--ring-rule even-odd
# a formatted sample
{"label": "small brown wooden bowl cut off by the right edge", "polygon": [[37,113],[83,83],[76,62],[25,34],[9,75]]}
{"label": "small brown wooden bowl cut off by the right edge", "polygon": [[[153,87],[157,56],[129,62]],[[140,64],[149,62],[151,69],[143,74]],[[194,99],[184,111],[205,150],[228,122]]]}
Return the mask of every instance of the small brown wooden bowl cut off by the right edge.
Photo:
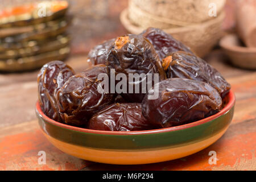
{"label": "small brown wooden bowl cut off by the right edge", "polygon": [[220,46],[230,61],[240,68],[256,69],[256,48],[243,47],[237,35],[226,35]]}

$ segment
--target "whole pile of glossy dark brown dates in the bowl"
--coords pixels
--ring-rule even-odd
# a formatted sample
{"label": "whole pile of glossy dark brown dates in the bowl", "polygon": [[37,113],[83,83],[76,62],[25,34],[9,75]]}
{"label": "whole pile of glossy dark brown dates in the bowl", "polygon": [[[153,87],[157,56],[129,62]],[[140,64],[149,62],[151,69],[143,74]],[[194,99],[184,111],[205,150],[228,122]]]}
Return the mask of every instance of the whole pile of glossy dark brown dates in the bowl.
{"label": "whole pile of glossy dark brown dates in the bowl", "polygon": [[39,103],[49,118],[106,131],[173,127],[216,114],[230,90],[216,69],[157,28],[108,40],[88,57],[92,67],[81,73],[62,61],[40,70]]}

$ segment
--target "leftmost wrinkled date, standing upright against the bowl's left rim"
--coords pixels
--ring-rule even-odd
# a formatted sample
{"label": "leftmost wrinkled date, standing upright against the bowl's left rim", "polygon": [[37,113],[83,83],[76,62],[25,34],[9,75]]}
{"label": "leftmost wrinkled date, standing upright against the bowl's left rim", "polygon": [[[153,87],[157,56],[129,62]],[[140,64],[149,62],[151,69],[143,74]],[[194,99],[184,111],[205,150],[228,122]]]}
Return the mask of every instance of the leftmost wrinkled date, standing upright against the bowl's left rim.
{"label": "leftmost wrinkled date, standing upright against the bowl's left rim", "polygon": [[45,64],[38,73],[39,104],[44,114],[61,122],[56,101],[56,93],[75,72],[62,61],[51,61]]}

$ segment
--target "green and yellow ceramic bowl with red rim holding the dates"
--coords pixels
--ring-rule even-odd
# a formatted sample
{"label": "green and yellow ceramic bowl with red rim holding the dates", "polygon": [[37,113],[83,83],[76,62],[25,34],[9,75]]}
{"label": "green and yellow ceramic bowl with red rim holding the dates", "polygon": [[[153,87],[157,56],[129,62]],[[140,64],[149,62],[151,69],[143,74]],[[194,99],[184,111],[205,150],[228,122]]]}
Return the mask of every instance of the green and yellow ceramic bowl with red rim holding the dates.
{"label": "green and yellow ceramic bowl with red rim holding the dates", "polygon": [[65,125],[44,115],[39,102],[36,115],[46,138],[69,155],[108,164],[148,164],[183,158],[216,142],[232,121],[232,91],[226,102],[220,112],[200,121],[145,131],[98,131]]}

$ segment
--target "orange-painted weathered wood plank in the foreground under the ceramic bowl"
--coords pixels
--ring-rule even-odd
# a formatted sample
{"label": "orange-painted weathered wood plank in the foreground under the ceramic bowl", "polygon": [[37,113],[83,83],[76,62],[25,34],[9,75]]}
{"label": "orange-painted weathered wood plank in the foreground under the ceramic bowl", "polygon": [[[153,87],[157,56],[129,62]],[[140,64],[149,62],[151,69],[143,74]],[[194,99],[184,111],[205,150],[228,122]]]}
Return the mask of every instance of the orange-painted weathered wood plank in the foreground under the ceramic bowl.
{"label": "orange-painted weathered wood plank in the foreground under the ceramic bowl", "polygon": [[[119,166],[73,158],[43,136],[37,121],[0,130],[0,170],[255,170],[256,119],[233,124],[212,146],[191,156],[169,162]],[[240,146],[240,147],[237,147]],[[46,164],[38,164],[38,152],[46,152]],[[216,151],[217,164],[210,165],[209,151]]]}

